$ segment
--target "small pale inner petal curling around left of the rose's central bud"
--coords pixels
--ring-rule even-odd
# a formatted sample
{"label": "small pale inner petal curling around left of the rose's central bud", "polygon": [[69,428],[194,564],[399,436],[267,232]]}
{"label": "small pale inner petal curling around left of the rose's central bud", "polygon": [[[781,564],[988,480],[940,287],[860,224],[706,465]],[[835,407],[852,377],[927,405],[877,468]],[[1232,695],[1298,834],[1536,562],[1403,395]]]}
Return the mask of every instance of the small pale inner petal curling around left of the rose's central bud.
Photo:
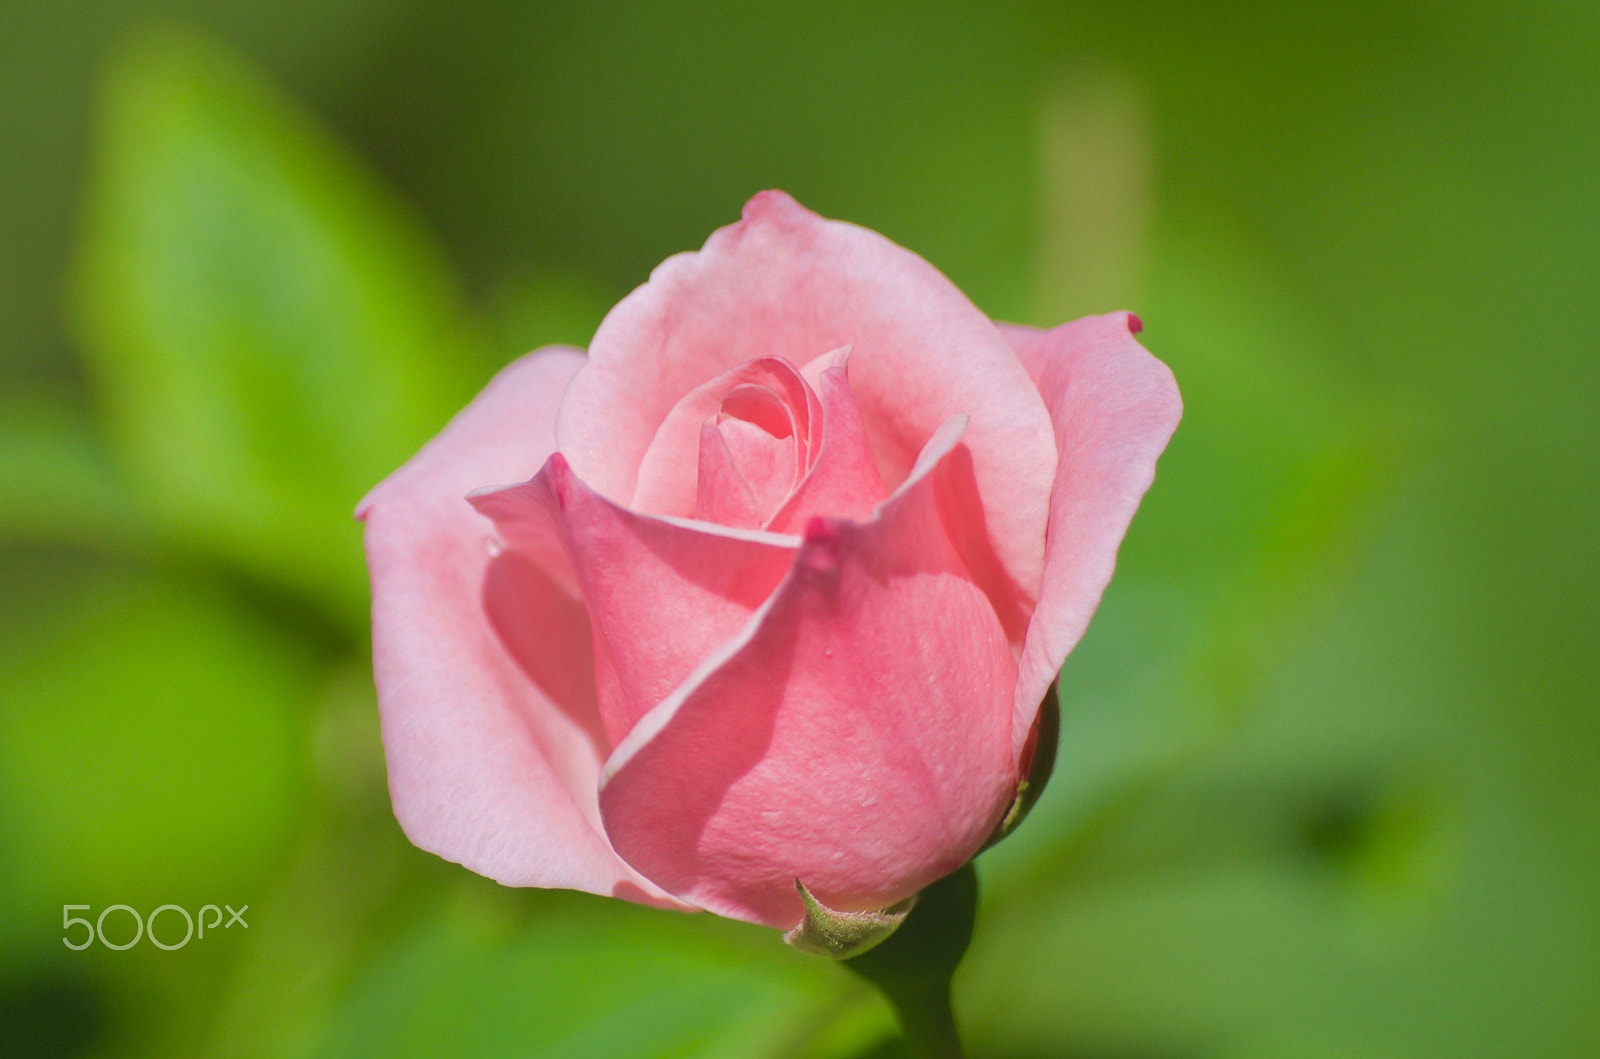
{"label": "small pale inner petal curling around left of the rose's central bud", "polygon": [[[782,418],[790,424],[789,434],[797,442],[810,437],[813,421],[821,424],[821,406],[816,395],[811,394],[811,387],[800,378],[800,370],[784,360],[762,357],[706,376],[699,386],[675,395],[661,418],[651,419],[646,438],[648,450],[642,456],[637,488],[630,482],[627,493],[603,490],[589,483],[576,466],[574,472],[602,496],[619,502],[626,501],[637,512],[686,517],[694,510],[698,498],[699,432],[707,419],[714,419],[723,411],[726,397],[733,395],[736,411],[757,414],[768,421],[774,432],[782,432],[782,427],[773,421],[773,410],[762,408],[765,402],[757,402],[746,387],[766,390],[778,398]],[[642,410],[640,414],[650,413]],[[618,443],[621,445],[621,440]],[[562,454],[566,456],[566,450],[562,450]],[[632,496],[632,501],[627,501],[627,496]]]}

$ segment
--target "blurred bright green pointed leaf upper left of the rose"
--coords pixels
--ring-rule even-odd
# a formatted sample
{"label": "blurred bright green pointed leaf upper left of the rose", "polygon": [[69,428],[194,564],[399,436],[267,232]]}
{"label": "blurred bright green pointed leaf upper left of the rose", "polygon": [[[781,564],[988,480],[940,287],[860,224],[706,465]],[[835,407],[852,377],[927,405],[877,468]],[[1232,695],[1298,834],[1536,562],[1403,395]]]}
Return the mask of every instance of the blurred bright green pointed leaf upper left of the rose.
{"label": "blurred bright green pointed leaf upper left of the rose", "polygon": [[418,224],[232,54],[150,32],[106,82],[77,293],[165,531],[362,629],[350,512],[482,376]]}

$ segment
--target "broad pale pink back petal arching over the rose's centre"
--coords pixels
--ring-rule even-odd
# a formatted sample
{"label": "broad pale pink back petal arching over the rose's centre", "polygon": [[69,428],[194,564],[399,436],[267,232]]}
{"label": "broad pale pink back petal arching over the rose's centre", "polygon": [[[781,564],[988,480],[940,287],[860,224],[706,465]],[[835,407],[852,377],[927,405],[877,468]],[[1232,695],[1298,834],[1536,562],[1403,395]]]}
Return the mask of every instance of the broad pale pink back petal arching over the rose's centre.
{"label": "broad pale pink back petal arching over the rose's centre", "polygon": [[662,262],[595,333],[557,432],[578,475],[634,494],[656,426],[691,389],[755,357],[808,363],[853,346],[851,387],[883,483],[898,485],[941,422],[965,445],[998,568],[1029,609],[1045,558],[1056,448],[1027,373],[933,266],[851,224],[762,192],[704,250]]}

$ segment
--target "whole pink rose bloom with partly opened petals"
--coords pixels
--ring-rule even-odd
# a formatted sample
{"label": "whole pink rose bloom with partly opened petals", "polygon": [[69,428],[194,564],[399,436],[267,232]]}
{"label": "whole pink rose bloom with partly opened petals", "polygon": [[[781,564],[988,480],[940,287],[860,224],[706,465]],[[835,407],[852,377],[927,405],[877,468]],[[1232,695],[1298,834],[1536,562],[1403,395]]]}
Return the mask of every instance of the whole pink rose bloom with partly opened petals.
{"label": "whole pink rose bloom with partly opened petals", "polygon": [[960,867],[1178,422],[1138,330],[763,192],[506,368],[357,510],[406,835],[776,928]]}

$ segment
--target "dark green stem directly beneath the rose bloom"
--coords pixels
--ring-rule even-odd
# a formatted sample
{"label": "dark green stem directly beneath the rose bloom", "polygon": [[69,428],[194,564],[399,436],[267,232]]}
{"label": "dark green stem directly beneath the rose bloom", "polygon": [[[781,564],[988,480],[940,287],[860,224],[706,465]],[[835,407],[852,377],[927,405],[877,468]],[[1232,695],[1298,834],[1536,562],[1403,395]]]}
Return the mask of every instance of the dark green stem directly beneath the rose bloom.
{"label": "dark green stem directly beneath the rose bloom", "polygon": [[966,955],[978,913],[978,870],[968,861],[922,891],[904,925],[845,966],[877,985],[901,1033],[923,1059],[962,1059],[950,1008],[950,976]]}

